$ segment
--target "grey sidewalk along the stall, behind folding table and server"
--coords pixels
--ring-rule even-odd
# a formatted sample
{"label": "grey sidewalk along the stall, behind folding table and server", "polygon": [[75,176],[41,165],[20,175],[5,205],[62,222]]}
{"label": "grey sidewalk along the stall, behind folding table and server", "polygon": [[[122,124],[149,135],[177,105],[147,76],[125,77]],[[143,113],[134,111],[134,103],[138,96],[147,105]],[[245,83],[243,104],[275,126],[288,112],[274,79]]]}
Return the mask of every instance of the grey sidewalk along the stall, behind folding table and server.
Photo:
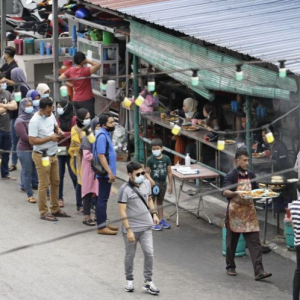
{"label": "grey sidewalk along the stall, behind folding table and server", "polygon": [[[121,180],[127,181],[128,175],[126,171],[126,162],[118,162],[117,163],[117,177]],[[176,181],[176,190],[179,191],[180,181]],[[184,191],[187,190],[195,190],[195,185],[189,182],[184,183]],[[211,193],[209,195],[203,196],[205,212],[209,216],[213,225],[218,227],[222,227],[224,223],[226,208],[227,208],[227,200],[221,195],[220,191],[217,191],[215,188],[211,187],[208,184],[204,185],[203,193]],[[166,194],[165,201],[171,204],[174,204],[174,212],[175,212],[175,193]],[[196,218],[196,212],[198,208],[199,202],[199,194],[194,196],[189,196],[187,193],[181,193],[180,195],[180,208],[183,210],[182,213],[191,213],[193,217]],[[180,226],[180,214],[179,214],[179,226]],[[264,229],[264,218],[265,211],[257,211],[258,219],[260,223],[260,237],[261,240],[263,238],[263,229]],[[168,217],[168,216],[167,216]],[[207,221],[207,218],[200,211],[200,217]],[[270,246],[270,248],[278,253],[279,255],[290,259],[296,262],[296,255],[293,251],[289,251],[286,248],[285,238],[284,238],[284,227],[283,227],[283,218],[284,213],[280,214],[280,235],[277,234],[276,228],[276,218],[273,218],[272,211],[268,212],[268,225],[267,225],[267,237],[266,244]],[[176,222],[176,214],[174,214],[171,219],[174,223]]]}

